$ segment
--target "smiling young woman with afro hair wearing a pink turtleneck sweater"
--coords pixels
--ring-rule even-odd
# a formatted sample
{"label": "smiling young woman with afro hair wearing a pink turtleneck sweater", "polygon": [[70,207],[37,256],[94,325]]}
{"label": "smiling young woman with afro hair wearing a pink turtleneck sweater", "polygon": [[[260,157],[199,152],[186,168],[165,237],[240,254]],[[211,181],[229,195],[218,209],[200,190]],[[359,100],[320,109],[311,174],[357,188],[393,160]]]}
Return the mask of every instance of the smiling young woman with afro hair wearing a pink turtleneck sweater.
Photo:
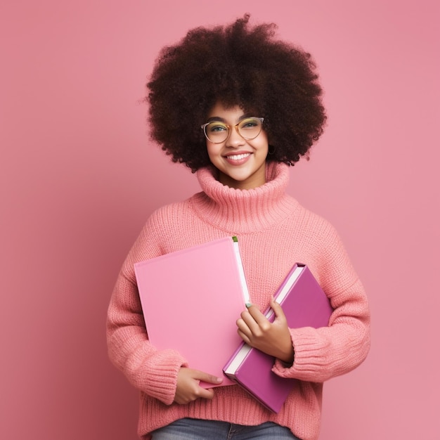
{"label": "smiling young woman with afro hair wearing a pink turtleneck sweater", "polygon": [[[140,390],[143,439],[317,439],[323,382],[368,354],[368,302],[337,232],[286,193],[289,165],[307,155],[325,124],[315,65],[276,40],[274,25],[248,20],[191,30],[162,50],[148,82],[153,139],[196,173],[202,191],[146,221],[108,309],[109,356]],[[253,304],[237,317],[238,333],[276,358],[274,373],[300,381],[278,414],[237,385],[203,389],[200,380],[221,378],[148,342],[134,263],[231,235]],[[297,261],[330,298],[327,328],[288,328],[271,299]],[[272,324],[260,311],[268,305]]]}

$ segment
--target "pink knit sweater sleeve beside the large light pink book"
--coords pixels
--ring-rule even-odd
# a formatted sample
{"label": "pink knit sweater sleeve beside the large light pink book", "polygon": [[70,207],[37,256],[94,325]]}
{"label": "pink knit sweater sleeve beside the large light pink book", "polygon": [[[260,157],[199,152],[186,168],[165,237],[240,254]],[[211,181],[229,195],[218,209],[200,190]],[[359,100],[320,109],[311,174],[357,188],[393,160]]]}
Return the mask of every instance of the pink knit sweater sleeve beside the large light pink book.
{"label": "pink knit sweater sleeve beside the large light pink book", "polygon": [[177,351],[157,350],[148,341],[134,263],[162,253],[149,231],[147,224],[124,261],[112,292],[107,315],[108,355],[134,387],[170,405],[177,373],[188,365]]}

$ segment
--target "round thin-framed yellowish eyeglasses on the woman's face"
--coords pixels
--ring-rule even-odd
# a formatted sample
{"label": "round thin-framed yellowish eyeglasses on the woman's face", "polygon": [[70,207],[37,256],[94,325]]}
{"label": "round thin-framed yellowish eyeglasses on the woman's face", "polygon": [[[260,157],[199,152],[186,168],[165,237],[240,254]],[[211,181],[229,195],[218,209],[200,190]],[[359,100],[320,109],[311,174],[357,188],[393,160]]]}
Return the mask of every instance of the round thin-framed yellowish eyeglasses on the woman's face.
{"label": "round thin-framed yellowish eyeglasses on the woman's face", "polygon": [[212,143],[226,141],[233,127],[235,127],[235,130],[237,130],[237,133],[240,134],[242,138],[250,141],[260,134],[263,121],[264,117],[246,117],[233,126],[220,121],[212,121],[200,125],[200,128],[203,130],[203,133],[205,133],[207,140]]}

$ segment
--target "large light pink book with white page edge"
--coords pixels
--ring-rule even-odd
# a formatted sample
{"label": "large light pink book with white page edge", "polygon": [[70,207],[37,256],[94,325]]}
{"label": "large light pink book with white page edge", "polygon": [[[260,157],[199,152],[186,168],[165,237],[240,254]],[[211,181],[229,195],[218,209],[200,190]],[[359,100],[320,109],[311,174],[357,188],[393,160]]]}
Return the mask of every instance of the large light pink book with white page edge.
{"label": "large light pink book with white page edge", "polygon": [[[134,265],[148,339],[176,349],[190,368],[224,377],[242,340],[235,321],[249,302],[238,241],[221,238]],[[233,384],[224,377],[220,385]]]}

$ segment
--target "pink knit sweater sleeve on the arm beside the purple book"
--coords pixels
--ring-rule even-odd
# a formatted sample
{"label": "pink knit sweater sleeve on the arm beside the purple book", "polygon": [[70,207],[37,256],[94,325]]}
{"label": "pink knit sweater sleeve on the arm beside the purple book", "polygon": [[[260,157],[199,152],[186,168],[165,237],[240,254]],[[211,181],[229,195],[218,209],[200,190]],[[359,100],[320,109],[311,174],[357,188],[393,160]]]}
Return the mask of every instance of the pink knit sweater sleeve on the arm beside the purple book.
{"label": "pink knit sweater sleeve on the arm beside the purple book", "polygon": [[273,371],[282,377],[309,382],[348,373],[360,365],[370,349],[370,311],[364,287],[341,240],[330,225],[322,237],[325,247],[316,261],[316,277],[334,309],[328,327],[292,328],[294,363],[276,361]]}

